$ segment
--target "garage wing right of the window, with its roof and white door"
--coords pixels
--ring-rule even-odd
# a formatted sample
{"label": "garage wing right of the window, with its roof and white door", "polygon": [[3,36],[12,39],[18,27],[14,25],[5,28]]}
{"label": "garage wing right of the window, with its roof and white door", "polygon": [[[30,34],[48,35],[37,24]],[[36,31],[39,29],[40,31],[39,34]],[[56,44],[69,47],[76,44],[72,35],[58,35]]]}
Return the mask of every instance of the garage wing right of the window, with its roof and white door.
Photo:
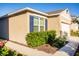
{"label": "garage wing right of the window, with its roof and white door", "polygon": [[58,35],[70,36],[71,16],[68,9],[48,12],[48,30],[56,30]]}

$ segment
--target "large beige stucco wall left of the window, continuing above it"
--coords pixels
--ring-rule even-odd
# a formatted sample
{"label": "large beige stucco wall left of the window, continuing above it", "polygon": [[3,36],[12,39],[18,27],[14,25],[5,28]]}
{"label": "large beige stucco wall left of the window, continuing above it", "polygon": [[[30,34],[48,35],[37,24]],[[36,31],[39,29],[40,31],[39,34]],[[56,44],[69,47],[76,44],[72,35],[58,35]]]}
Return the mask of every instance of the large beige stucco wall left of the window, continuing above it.
{"label": "large beige stucco wall left of the window, continuing above it", "polygon": [[[26,44],[25,37],[30,32],[29,15],[44,17],[32,12],[25,12],[9,17],[9,39],[21,44]],[[44,17],[46,18],[46,17]]]}

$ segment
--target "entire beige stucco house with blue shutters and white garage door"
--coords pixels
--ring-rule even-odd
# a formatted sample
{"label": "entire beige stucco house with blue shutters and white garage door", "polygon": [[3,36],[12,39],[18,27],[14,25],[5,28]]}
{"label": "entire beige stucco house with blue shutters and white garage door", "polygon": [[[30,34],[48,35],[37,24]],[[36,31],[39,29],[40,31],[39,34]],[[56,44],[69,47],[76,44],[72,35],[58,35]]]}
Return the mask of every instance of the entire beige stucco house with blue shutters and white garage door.
{"label": "entire beige stucco house with blue shutters and white garage door", "polygon": [[57,35],[65,32],[70,36],[71,16],[68,9],[40,12],[24,8],[0,17],[0,37],[26,44],[30,32],[56,30]]}

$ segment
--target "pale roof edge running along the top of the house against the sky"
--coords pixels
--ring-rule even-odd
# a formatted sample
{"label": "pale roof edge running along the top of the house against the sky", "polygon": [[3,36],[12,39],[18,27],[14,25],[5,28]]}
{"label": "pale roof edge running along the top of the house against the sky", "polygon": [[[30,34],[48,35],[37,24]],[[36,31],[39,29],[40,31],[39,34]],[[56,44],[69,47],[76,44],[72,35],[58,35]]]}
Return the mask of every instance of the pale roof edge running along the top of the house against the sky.
{"label": "pale roof edge running along the top of the house against the sky", "polygon": [[[68,9],[68,8],[65,8],[64,10],[66,10],[66,9]],[[22,11],[32,11],[32,12],[36,12],[36,13],[39,13],[39,14],[42,14],[42,15],[45,15],[45,16],[55,16],[55,15],[59,15],[60,14],[60,13],[47,14],[47,13],[44,13],[44,12],[41,12],[41,11],[38,11],[38,10],[35,10],[35,9],[32,9],[32,8],[29,8],[29,7],[26,7],[26,8],[19,9],[19,10],[15,11],[15,12],[12,12],[12,13],[8,13],[6,15],[8,17],[8,16],[11,16],[13,14],[20,13]],[[0,18],[3,18],[3,17],[5,17],[5,15],[1,16]]]}

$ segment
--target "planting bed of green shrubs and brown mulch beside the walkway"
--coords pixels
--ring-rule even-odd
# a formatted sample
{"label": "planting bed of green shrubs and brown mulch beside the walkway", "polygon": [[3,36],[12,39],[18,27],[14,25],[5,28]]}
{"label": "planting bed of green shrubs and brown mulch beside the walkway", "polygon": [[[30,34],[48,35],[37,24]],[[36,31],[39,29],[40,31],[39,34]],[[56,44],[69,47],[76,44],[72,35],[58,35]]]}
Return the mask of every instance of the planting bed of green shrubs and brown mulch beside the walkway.
{"label": "planting bed of green shrubs and brown mulch beside the walkway", "polygon": [[56,37],[56,31],[32,32],[26,36],[28,47],[47,53],[55,53],[68,42],[66,36]]}

